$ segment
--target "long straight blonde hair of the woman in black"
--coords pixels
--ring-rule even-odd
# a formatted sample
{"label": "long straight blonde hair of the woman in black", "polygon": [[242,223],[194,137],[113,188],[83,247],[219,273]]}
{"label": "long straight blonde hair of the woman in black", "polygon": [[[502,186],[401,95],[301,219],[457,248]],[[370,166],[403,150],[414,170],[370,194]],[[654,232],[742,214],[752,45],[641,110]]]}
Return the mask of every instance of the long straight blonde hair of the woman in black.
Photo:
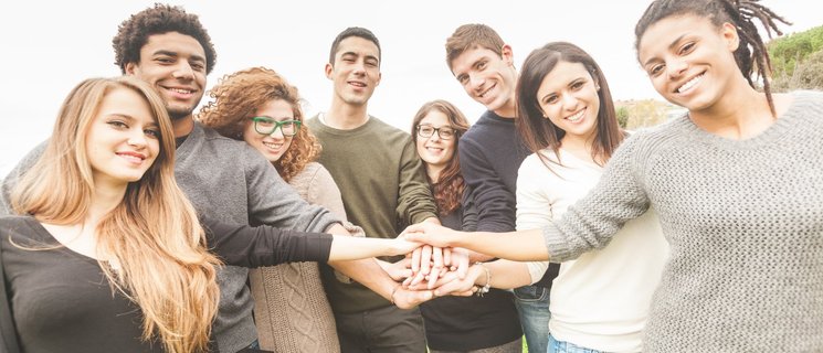
{"label": "long straight blonde hair of the woman in black", "polygon": [[12,206],[40,222],[84,222],[94,193],[87,132],[103,99],[118,88],[131,89],[148,103],[160,130],[160,151],[143,178],[127,185],[123,202],[97,224],[97,252],[116,260],[119,269],[115,272],[98,259],[99,266],[113,290],[140,308],[144,341],[157,334],[167,352],[207,351],[220,298],[220,261],[207,252],[197,213],[175,181],[171,121],[147,83],[92,78],[72,89],[43,157],[13,190]]}

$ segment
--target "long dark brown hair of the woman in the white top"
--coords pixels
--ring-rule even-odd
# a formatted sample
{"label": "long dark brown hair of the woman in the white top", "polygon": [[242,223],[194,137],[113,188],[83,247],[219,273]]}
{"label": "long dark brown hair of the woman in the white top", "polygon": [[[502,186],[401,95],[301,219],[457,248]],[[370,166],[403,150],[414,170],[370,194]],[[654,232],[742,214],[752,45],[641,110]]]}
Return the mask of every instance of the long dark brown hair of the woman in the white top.
{"label": "long dark brown hair of the woman in the white top", "polygon": [[[612,157],[624,133],[618,125],[612,94],[603,71],[594,58],[579,46],[567,42],[552,42],[532,51],[523,64],[520,78],[517,81],[517,130],[520,132],[528,149],[536,153],[547,167],[548,160],[540,150],[550,148],[559,156],[560,140],[566,131],[557,127],[551,120],[544,118],[538,104],[537,90],[544,78],[555,69],[558,63],[580,63],[585,67],[594,82],[600,86],[598,97],[600,107],[598,122],[592,146],[591,157],[595,163],[602,164]],[[549,168],[550,169],[550,168]]]}

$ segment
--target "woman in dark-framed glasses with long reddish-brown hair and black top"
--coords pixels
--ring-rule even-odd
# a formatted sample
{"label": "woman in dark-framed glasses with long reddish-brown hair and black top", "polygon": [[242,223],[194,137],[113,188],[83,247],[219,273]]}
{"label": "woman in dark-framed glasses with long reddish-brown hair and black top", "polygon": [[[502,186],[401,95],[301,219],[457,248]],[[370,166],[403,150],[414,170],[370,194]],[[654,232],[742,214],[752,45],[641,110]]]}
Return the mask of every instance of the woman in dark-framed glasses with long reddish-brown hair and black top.
{"label": "woman in dark-framed glasses with long reddish-brown hair and black top", "polygon": [[[463,113],[445,100],[424,104],[412,121],[418,154],[425,163],[443,226],[473,232],[477,210],[463,181],[460,137],[468,129]],[[483,297],[442,297],[420,308],[430,352],[521,352],[520,322],[511,295],[492,289]]]}

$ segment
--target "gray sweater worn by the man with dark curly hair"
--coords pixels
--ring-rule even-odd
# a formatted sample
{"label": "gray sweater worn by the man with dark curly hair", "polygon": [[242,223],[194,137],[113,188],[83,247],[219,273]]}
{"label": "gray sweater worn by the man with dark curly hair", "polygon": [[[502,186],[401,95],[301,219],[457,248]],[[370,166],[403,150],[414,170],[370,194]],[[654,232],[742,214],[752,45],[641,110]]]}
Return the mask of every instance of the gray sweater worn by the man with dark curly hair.
{"label": "gray sweater worn by the man with dark curly hair", "polygon": [[[43,153],[30,152],[2,183],[0,212],[11,213],[8,196],[21,173]],[[194,124],[177,148],[175,176],[197,211],[235,224],[268,224],[279,228],[323,232],[339,222],[327,210],[309,205],[281,179],[260,152],[243,141]],[[238,352],[256,339],[246,284],[249,270],[225,266],[218,272],[220,311],[212,335],[221,352]]]}

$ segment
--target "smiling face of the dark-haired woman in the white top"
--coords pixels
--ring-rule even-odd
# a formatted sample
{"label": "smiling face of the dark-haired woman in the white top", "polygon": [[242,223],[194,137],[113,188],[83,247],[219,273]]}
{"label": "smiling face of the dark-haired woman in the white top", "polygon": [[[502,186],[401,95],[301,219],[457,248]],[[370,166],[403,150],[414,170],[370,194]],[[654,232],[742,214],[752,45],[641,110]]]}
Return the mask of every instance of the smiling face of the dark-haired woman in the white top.
{"label": "smiling face of the dark-haired woman in the white top", "polygon": [[562,140],[594,137],[600,113],[598,84],[581,63],[560,61],[537,89],[537,104],[551,124],[566,131]]}

